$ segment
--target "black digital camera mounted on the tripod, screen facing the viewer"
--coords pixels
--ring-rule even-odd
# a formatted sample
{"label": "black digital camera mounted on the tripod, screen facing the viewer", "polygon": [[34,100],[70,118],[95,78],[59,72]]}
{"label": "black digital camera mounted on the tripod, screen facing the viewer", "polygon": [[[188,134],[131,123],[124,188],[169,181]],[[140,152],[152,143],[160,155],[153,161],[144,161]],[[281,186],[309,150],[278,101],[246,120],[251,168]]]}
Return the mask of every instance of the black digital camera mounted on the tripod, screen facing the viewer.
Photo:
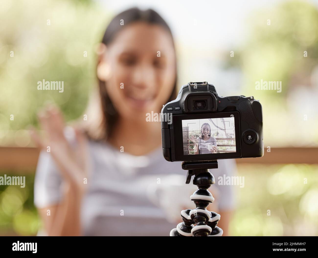
{"label": "black digital camera mounted on the tripod, screen facing the viewer", "polygon": [[161,111],[167,161],[262,157],[262,106],[254,97],[219,96],[207,82],[188,83]]}

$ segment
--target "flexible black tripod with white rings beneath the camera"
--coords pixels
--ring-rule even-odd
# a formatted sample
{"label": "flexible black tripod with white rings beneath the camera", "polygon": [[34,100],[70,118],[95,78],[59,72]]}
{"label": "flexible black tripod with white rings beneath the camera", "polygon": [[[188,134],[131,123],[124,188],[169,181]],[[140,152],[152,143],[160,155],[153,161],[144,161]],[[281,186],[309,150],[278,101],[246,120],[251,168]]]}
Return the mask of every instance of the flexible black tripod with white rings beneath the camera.
{"label": "flexible black tripod with white rings beneath the camera", "polygon": [[186,184],[189,184],[192,175],[195,175],[193,184],[198,187],[198,190],[190,196],[190,199],[197,208],[181,211],[183,222],[170,231],[170,236],[222,236],[223,230],[217,227],[221,216],[206,209],[214,201],[208,191],[209,187],[215,183],[209,169],[217,168],[217,160],[182,162],[182,169],[188,170]]}

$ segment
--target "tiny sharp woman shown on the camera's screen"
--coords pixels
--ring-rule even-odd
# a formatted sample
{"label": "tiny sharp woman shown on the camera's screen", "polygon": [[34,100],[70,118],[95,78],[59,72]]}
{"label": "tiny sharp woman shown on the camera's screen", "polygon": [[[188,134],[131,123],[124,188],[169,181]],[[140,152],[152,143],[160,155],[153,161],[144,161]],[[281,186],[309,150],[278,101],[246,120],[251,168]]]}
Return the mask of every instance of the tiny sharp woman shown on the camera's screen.
{"label": "tiny sharp woman shown on the camera's screen", "polygon": [[217,140],[211,136],[211,127],[208,123],[201,125],[199,137],[191,135],[191,141],[195,144],[196,150],[194,154],[211,154],[217,153]]}

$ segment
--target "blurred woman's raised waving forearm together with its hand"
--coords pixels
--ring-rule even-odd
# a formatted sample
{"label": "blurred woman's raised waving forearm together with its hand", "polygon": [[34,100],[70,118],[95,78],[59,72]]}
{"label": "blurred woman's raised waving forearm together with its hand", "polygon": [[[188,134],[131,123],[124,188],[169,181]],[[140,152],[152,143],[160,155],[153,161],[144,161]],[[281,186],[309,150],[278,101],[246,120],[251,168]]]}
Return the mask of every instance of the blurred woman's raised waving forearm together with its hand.
{"label": "blurred woman's raised waving forearm together with its hand", "polygon": [[[77,146],[73,148],[69,144],[63,132],[62,114],[56,107],[46,109],[39,120],[47,137],[42,139],[35,130],[32,130],[31,136],[39,148],[50,146],[50,155],[63,179],[64,187],[59,204],[41,208],[39,213],[48,235],[81,235],[80,208],[87,186],[84,180],[89,174],[86,138],[75,130]],[[47,216],[48,209],[51,216]]]}

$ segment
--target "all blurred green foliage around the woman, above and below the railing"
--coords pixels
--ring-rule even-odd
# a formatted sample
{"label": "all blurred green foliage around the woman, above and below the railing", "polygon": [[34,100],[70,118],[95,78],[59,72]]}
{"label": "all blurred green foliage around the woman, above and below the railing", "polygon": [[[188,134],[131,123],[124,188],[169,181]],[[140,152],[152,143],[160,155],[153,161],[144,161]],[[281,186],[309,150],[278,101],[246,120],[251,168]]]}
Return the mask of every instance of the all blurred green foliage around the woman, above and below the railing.
{"label": "all blurred green foliage around the woman, above and below the railing", "polygon": [[[96,86],[96,46],[115,12],[99,1],[1,1],[0,6],[0,146],[27,147],[27,126],[37,126],[45,102],[57,103],[67,121],[83,113]],[[317,147],[317,7],[279,2],[254,10],[245,24],[249,33],[231,49],[235,58],[228,49],[220,51],[221,69],[237,69],[242,77],[229,95],[260,100],[265,148]],[[180,40],[176,47],[182,85],[193,81],[185,57],[191,48]],[[195,54],[206,58],[206,52]],[[64,93],[37,90],[43,79],[64,81]],[[261,79],[281,81],[281,93],[256,90]],[[36,235],[41,223],[33,205],[33,172],[7,171],[0,164],[2,176],[26,176],[25,188],[0,186],[0,235]],[[317,165],[239,164],[239,175],[245,176],[245,187],[237,191],[231,235],[318,235]]]}

